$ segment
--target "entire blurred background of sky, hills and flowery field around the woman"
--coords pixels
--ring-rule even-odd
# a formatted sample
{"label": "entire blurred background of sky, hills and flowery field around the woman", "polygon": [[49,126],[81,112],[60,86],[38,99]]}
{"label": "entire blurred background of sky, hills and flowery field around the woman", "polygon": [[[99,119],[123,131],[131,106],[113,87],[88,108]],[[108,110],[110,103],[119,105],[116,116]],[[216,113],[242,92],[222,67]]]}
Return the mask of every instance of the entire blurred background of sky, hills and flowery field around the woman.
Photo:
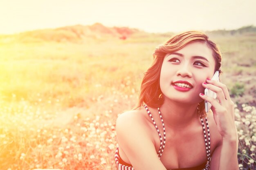
{"label": "entire blurred background of sky, hills and flowery field around the woman", "polygon": [[238,161],[256,168],[255,0],[0,2],[0,169],[117,170],[115,121],[158,44],[206,32],[236,104]]}

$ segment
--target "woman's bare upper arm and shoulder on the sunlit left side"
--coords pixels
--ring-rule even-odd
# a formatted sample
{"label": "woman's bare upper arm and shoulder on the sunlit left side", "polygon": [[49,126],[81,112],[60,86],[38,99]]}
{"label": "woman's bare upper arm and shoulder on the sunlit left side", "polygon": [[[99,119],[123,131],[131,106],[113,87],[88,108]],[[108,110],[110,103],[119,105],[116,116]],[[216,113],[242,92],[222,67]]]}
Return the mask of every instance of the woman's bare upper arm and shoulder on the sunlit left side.
{"label": "woman's bare upper arm and shoulder on the sunlit left side", "polygon": [[[117,118],[116,131],[119,147],[124,150],[135,170],[166,170],[157,156],[152,137],[144,120],[129,111]],[[143,123],[144,122],[144,123]]]}

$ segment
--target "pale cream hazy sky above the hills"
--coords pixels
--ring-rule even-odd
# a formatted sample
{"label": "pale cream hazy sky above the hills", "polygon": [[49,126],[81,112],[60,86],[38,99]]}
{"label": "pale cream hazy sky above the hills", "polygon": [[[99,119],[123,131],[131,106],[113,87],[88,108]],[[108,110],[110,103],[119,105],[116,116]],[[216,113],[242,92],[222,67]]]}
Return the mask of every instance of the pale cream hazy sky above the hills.
{"label": "pale cream hazy sky above the hills", "polygon": [[147,32],[256,26],[256,0],[2,0],[0,34],[76,24]]}

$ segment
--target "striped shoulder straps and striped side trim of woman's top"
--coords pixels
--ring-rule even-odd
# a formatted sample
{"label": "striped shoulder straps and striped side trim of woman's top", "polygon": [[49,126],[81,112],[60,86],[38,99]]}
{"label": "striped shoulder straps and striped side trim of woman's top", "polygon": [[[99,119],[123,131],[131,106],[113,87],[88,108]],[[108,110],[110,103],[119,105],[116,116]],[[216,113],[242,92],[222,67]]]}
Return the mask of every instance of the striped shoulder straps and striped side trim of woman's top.
{"label": "striped shoulder straps and striped side trim of woman's top", "polygon": [[[165,139],[166,139],[166,133],[165,133],[165,127],[164,127],[164,121],[162,119],[162,114],[160,112],[160,109],[158,109],[158,113],[159,113],[159,116],[161,118],[161,121],[162,121],[162,125],[163,125],[163,129],[164,129],[164,141],[162,140],[162,136],[159,132],[159,129],[155,123],[155,120],[153,119],[152,117],[152,114],[150,113],[150,111],[148,110],[148,107],[146,105],[144,105],[144,107],[146,108],[146,111],[148,113],[148,115],[150,116],[151,120],[153,121],[153,124],[155,125],[155,128],[157,129],[157,132],[159,134],[159,138],[160,138],[160,148],[158,150],[158,157],[160,159],[160,157],[162,156],[162,153],[164,151],[164,146],[165,146]],[[202,169],[202,170],[209,170],[210,168],[210,160],[211,160],[211,152],[210,152],[210,130],[209,130],[209,125],[208,125],[208,121],[207,121],[207,117],[205,117],[205,121],[206,121],[206,125],[207,125],[207,133],[208,133],[208,144],[207,144],[207,136],[206,136],[206,132],[205,132],[205,126],[204,126],[204,121],[202,119],[202,117],[200,117],[201,119],[201,122],[202,122],[202,127],[203,127],[203,132],[204,132],[204,142],[205,142],[205,146],[206,146],[206,152],[207,152],[207,163],[205,165],[205,168]],[[115,161],[117,163],[117,166],[118,166],[118,170],[134,170],[134,168],[132,166],[125,166],[125,165],[122,165],[121,163],[119,163],[119,148],[117,147],[117,150],[116,150],[116,153],[115,153]]]}

